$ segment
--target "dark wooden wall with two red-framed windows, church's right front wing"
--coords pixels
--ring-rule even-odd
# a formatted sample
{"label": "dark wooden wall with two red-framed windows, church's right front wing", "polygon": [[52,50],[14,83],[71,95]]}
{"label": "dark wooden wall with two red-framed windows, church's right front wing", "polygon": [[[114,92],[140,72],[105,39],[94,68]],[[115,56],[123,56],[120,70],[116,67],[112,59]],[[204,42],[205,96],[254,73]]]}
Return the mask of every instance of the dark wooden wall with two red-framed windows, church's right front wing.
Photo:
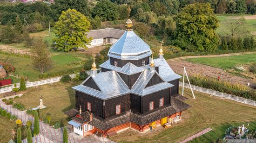
{"label": "dark wooden wall with two red-framed windows, church's right front wing", "polygon": [[[161,98],[163,99],[164,102],[164,106],[166,105],[170,105],[170,88],[164,89],[162,91],[156,92],[156,93],[152,93],[152,94],[148,94],[146,96],[142,97],[142,102],[143,102],[143,106],[142,106],[142,114],[149,112],[149,102],[154,101],[154,110],[159,108],[159,101]],[[154,111],[153,110],[153,111]]]}

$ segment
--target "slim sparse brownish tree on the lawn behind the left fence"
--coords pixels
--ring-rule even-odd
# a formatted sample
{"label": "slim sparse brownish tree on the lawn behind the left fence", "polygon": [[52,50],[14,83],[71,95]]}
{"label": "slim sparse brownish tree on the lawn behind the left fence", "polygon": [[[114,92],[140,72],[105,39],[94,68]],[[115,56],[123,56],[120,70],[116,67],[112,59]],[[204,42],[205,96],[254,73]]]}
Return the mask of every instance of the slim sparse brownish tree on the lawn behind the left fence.
{"label": "slim sparse brownish tree on the lawn behind the left fence", "polygon": [[34,40],[34,44],[32,46],[32,53],[34,67],[38,68],[40,70],[40,73],[43,74],[46,70],[50,68],[51,57],[46,44],[41,38],[37,38]]}

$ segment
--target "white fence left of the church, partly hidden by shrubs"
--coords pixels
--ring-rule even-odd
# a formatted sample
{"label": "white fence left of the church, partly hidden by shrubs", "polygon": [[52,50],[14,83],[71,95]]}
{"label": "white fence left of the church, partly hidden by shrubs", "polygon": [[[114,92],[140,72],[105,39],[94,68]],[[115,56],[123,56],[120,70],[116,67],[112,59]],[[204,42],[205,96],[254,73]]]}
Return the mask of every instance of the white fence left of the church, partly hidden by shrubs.
{"label": "white fence left of the church, partly hidden by shrubs", "polygon": [[[86,71],[86,73],[88,75],[92,74],[92,71]],[[71,78],[75,78],[77,74],[73,74],[73,75],[69,75]],[[26,87],[36,87],[36,86],[40,86],[40,85],[44,85],[44,84],[49,84],[49,83],[54,83],[54,82],[59,82],[61,80],[61,77],[55,77],[55,78],[51,78],[51,79],[46,79],[46,80],[42,80],[42,81],[34,81],[34,82],[26,82]],[[20,83],[16,83],[17,87],[20,87]],[[13,91],[14,88],[14,84],[12,84],[12,86],[10,87],[5,87],[5,88],[1,88],[0,89],[0,93],[7,93],[7,92],[11,92]]]}

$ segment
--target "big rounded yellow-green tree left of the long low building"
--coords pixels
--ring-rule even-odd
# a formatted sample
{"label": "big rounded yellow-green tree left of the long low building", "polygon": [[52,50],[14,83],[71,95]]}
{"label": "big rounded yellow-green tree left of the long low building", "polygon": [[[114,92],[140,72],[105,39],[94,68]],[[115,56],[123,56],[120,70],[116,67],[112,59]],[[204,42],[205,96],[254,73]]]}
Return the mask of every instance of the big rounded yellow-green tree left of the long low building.
{"label": "big rounded yellow-green tree left of the long low building", "polygon": [[74,9],[62,12],[54,29],[56,37],[54,41],[58,50],[69,51],[76,48],[87,49],[91,39],[87,37],[90,22],[87,18]]}

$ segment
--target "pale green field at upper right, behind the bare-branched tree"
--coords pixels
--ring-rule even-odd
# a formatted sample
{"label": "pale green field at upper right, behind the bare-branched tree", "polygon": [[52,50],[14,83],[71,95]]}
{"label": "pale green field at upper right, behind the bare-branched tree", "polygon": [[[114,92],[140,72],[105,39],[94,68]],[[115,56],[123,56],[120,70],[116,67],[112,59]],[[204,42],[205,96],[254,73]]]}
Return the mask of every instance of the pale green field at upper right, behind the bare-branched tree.
{"label": "pale green field at upper right, behind the bare-branched tree", "polygon": [[[220,34],[221,36],[227,36],[227,34],[229,34],[230,32],[227,29],[227,24],[229,22],[233,22],[236,21],[237,18],[243,17],[241,15],[219,15],[217,16],[217,18],[220,20],[220,26],[219,28],[217,28],[216,32],[217,34]],[[246,19],[246,31],[251,32],[255,32],[256,33],[256,19]],[[254,35],[254,37],[256,38],[256,35]]]}

